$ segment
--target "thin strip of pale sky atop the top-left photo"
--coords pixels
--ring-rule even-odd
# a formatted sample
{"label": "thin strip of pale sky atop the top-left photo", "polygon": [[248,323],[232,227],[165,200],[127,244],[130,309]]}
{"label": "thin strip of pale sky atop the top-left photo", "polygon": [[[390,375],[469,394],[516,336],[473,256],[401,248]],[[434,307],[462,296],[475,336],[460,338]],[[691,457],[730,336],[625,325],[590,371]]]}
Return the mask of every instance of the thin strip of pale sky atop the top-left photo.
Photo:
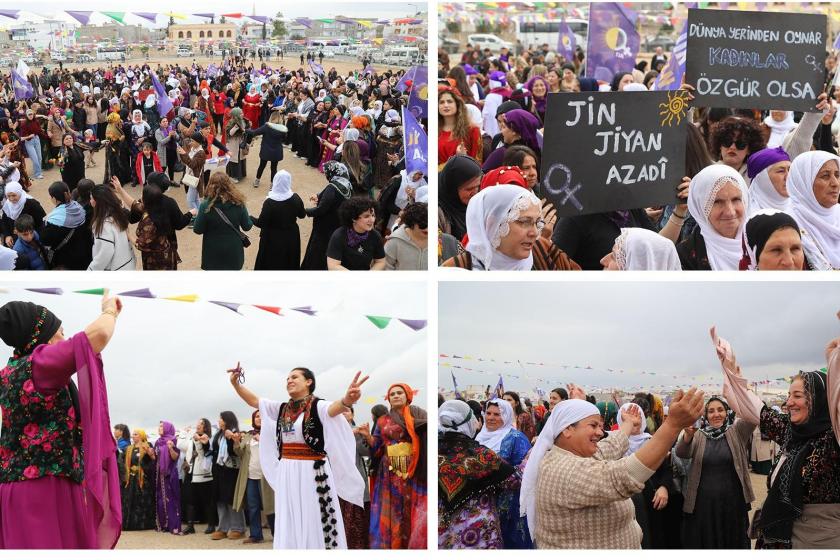
{"label": "thin strip of pale sky atop the top-left photo", "polygon": [[[25,10],[35,12],[40,15],[59,17],[60,19],[70,18],[67,14],[58,14],[61,10],[80,10],[80,11],[126,11],[126,12],[160,12],[166,13],[173,11],[178,14],[190,15],[194,13],[242,13],[246,15],[263,15],[274,16],[278,11],[283,14],[285,18],[328,18],[337,15],[344,15],[347,17],[358,18],[400,18],[414,15],[419,12],[426,12],[426,2],[353,2],[353,1],[332,1],[332,2],[257,2],[256,10],[254,10],[255,3],[242,0],[225,0],[224,2],[210,2],[206,0],[179,0],[178,2],[171,2],[169,0],[144,0],[141,3],[133,3],[132,5],[116,6],[111,0],[76,0],[71,4],[62,2],[45,2],[43,0],[34,0],[22,4],[12,2],[0,2],[0,9],[8,10]],[[76,21],[70,18],[68,21]],[[92,23],[102,23],[104,21],[113,21],[102,14],[94,14],[92,16]],[[181,21],[181,20],[176,20]],[[203,18],[190,18],[192,22],[207,21]],[[134,15],[126,16],[126,23],[148,23],[142,18]],[[8,27],[13,25],[15,20],[0,17],[0,27]],[[158,16],[157,23],[159,26],[166,25],[166,18]]]}

